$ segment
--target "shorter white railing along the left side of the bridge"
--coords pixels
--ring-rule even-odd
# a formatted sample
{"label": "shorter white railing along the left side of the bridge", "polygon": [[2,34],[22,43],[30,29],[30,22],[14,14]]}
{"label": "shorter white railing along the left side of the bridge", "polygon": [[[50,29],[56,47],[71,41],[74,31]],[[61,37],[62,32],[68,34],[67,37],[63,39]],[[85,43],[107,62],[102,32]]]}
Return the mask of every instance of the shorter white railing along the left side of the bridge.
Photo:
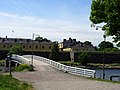
{"label": "shorter white railing along the left side of the bridge", "polygon": [[23,56],[12,54],[12,59],[15,59],[19,63],[26,63],[26,64],[31,64],[29,59],[24,58]]}

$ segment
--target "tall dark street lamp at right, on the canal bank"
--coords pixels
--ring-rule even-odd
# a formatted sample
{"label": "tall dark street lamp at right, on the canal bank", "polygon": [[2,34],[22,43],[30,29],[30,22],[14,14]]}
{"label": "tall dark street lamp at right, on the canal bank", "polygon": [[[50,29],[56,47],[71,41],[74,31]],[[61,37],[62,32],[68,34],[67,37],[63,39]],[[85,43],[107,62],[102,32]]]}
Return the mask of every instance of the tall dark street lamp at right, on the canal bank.
{"label": "tall dark street lamp at right, on the canal bank", "polygon": [[[101,26],[95,26],[94,24],[91,24],[91,27],[96,27],[96,30],[98,30],[99,28],[102,28]],[[102,70],[102,78],[105,79],[105,43],[106,43],[106,31],[104,31],[104,49],[103,49],[103,70]]]}

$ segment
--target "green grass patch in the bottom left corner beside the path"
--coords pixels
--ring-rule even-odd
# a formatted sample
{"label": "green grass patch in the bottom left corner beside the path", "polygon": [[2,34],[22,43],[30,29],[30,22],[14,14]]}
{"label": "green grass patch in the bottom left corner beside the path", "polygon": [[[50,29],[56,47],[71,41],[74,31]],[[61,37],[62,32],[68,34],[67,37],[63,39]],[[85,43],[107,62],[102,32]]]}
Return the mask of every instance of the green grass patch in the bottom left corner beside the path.
{"label": "green grass patch in the bottom left corner beside the path", "polygon": [[0,75],[0,90],[32,90],[32,85],[8,75]]}

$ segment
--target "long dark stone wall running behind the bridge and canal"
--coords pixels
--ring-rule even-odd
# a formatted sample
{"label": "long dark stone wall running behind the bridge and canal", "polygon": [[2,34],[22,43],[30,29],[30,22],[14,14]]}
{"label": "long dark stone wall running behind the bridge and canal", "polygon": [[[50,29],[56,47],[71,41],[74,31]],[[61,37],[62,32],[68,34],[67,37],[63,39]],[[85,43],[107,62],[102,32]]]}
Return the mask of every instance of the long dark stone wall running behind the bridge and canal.
{"label": "long dark stone wall running behind the bridge and canal", "polygon": [[[5,59],[7,57],[8,51],[0,50],[0,60]],[[23,55],[31,55],[32,52],[24,51]],[[50,52],[33,52],[34,55],[42,56],[45,58],[49,58]],[[80,53],[74,54],[74,60],[78,61],[78,55]],[[89,52],[90,62],[91,63],[102,63],[103,62],[103,53],[101,52]],[[69,52],[60,52],[59,53],[59,61],[70,61],[70,53]],[[120,53],[106,53],[105,54],[105,63],[120,63]]]}

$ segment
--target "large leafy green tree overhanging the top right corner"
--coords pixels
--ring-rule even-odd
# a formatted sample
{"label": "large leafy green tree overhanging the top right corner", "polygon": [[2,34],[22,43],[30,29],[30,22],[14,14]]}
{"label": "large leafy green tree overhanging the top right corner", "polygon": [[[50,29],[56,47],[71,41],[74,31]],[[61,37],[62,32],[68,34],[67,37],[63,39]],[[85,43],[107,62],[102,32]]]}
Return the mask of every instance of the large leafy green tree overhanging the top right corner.
{"label": "large leafy green tree overhanging the top right corner", "polygon": [[120,0],[92,0],[90,20],[103,23],[102,30],[114,36],[114,42],[120,42]]}

